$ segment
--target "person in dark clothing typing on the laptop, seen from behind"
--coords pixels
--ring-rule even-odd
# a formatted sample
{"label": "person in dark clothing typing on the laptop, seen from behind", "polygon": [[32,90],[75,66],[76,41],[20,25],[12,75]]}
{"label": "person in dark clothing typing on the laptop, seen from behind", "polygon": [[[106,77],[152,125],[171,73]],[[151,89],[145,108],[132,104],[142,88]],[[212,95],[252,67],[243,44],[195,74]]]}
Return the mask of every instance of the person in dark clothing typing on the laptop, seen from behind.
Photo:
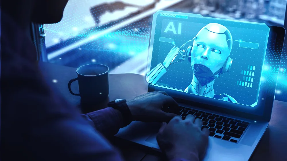
{"label": "person in dark clothing typing on the laptop, seen from behind", "polygon": [[[1,158],[123,160],[106,139],[123,128],[121,113],[108,107],[81,115],[39,72],[30,23],[61,21],[67,1],[2,1]],[[162,106],[178,107],[166,92],[143,94],[127,105],[133,120],[168,122],[162,124],[157,140],[169,161],[197,161],[204,156],[209,130],[201,130],[202,121],[194,116],[182,120],[180,116],[163,112]]]}

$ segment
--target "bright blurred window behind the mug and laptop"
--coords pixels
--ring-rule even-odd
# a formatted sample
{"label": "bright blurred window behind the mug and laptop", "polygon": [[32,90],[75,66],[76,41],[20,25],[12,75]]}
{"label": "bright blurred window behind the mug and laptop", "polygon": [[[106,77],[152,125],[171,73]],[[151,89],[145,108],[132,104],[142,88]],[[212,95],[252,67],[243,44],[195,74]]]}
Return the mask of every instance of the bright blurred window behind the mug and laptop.
{"label": "bright blurred window behind the mug and laptop", "polygon": [[282,26],[285,10],[276,6],[285,9],[286,0],[70,0],[60,23],[43,25],[47,59],[71,67],[102,63],[111,73],[144,75],[157,10]]}

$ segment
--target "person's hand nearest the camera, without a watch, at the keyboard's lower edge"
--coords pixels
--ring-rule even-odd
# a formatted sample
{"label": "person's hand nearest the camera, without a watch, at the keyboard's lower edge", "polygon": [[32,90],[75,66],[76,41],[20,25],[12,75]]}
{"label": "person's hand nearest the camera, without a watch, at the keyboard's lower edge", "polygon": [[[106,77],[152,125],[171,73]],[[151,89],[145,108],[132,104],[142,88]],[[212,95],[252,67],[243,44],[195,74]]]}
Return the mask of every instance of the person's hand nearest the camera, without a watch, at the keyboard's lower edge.
{"label": "person's hand nearest the camera, without a watch, at the keyboard's lower edge", "polygon": [[167,159],[202,159],[208,145],[209,130],[201,130],[201,126],[202,121],[193,115],[187,115],[185,120],[175,116],[168,124],[164,122],[156,140]]}

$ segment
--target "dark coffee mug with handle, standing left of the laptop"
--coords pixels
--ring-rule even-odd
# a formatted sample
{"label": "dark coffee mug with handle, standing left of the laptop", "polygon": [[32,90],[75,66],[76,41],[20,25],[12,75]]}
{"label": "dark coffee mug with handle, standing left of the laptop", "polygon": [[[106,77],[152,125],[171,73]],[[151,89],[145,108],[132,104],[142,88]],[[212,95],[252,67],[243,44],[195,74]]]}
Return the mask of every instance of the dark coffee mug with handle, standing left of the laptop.
{"label": "dark coffee mug with handle, standing left of the laptop", "polygon": [[[88,64],[77,68],[78,77],[71,79],[68,84],[72,95],[80,96],[85,103],[96,103],[105,100],[109,94],[108,83],[109,68],[102,64]],[[71,90],[71,84],[78,81],[79,94]]]}

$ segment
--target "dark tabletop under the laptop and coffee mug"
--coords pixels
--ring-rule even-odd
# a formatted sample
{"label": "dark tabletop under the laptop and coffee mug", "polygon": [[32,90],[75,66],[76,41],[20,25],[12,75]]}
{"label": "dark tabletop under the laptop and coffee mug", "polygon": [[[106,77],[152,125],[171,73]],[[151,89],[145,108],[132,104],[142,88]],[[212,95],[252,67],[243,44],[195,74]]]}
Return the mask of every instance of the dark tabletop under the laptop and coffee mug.
{"label": "dark tabletop under the laptop and coffee mug", "polygon": [[[57,80],[55,87],[75,106],[80,106],[80,97],[73,96],[68,90],[68,82],[70,79],[77,77],[76,68],[65,67],[50,63],[39,63],[39,67],[46,81]],[[131,100],[135,96],[144,94],[148,90],[148,84],[145,77],[137,74],[110,74],[110,94],[109,98],[100,105],[99,108],[105,108],[108,101],[118,98]],[[78,92],[77,83],[72,84],[72,90]],[[97,109],[92,109],[97,110]],[[122,150],[122,149],[121,149]],[[126,160],[131,161],[153,161],[162,160],[158,154],[142,150],[140,148],[125,148],[123,155]],[[286,161],[287,160],[287,102],[274,101],[271,121],[264,136],[255,149],[252,161]]]}

